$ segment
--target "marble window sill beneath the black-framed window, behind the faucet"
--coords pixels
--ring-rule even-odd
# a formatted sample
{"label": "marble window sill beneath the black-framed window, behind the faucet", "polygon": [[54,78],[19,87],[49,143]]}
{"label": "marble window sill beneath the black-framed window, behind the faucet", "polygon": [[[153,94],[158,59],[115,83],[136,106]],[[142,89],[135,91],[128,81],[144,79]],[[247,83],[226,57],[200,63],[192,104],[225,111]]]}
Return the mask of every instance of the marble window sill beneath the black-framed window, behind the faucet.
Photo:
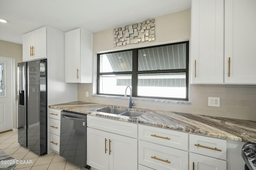
{"label": "marble window sill beneath the black-framed window, behind the faucet", "polygon": [[[110,99],[124,99],[122,96],[110,96],[110,95],[92,95],[92,97],[102,97],[102,98],[110,98]],[[129,99],[127,97],[126,99]],[[142,97],[132,97],[132,100],[135,101],[152,101],[152,102],[160,102],[160,103],[174,103],[174,104],[184,104],[190,105],[191,103],[183,100],[168,100],[168,99],[153,99],[153,98],[142,98]]]}

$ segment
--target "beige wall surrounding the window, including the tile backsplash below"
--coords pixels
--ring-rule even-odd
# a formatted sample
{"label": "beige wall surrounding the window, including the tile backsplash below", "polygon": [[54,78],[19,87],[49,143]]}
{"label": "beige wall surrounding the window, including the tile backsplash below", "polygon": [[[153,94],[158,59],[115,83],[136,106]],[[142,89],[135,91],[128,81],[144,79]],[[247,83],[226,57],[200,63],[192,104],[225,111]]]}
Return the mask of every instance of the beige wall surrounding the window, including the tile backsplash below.
{"label": "beige wall surrounding the window, including the tile backsplash below", "polygon": [[[180,42],[190,39],[190,10],[183,10],[155,18],[156,41],[113,47],[113,29],[93,35],[94,83],[78,84],[78,100],[110,105],[128,106],[128,100],[91,97],[96,93],[97,55],[102,51],[116,51]],[[134,24],[134,23],[130,23]],[[89,91],[89,97],[85,97]],[[209,107],[208,97],[220,97],[220,107]],[[256,85],[191,85],[189,84],[190,104],[134,101],[135,107],[211,115],[237,119],[256,120]]]}

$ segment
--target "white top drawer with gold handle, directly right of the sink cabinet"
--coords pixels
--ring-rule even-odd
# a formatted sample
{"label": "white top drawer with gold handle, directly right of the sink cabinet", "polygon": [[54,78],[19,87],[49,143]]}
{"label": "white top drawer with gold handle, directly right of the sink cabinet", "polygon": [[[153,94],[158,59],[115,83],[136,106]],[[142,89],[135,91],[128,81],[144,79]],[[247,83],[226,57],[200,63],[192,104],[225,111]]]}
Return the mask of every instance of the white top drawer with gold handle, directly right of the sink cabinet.
{"label": "white top drawer with gold handle, directly right of the sink cabinet", "polygon": [[138,125],[138,138],[156,144],[188,150],[188,133],[186,132]]}

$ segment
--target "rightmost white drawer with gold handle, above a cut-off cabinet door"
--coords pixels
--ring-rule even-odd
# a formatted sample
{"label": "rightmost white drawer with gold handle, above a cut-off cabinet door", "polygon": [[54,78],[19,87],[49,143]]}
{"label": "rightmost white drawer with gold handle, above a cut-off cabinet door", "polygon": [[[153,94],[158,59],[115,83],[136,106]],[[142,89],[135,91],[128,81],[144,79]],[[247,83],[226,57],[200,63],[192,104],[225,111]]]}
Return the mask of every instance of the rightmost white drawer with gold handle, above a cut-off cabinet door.
{"label": "rightmost white drawer with gold handle, above a cut-off cabinet door", "polygon": [[189,137],[190,152],[226,160],[226,140],[196,134],[190,134]]}

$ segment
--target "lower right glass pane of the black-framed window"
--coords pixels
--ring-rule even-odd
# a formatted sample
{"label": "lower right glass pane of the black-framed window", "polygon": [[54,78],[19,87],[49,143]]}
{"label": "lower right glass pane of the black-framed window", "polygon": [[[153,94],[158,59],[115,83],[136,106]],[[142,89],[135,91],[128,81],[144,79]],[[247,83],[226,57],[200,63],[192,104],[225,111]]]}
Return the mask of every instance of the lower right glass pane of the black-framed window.
{"label": "lower right glass pane of the black-framed window", "polygon": [[138,74],[138,96],[186,98],[186,73]]}

